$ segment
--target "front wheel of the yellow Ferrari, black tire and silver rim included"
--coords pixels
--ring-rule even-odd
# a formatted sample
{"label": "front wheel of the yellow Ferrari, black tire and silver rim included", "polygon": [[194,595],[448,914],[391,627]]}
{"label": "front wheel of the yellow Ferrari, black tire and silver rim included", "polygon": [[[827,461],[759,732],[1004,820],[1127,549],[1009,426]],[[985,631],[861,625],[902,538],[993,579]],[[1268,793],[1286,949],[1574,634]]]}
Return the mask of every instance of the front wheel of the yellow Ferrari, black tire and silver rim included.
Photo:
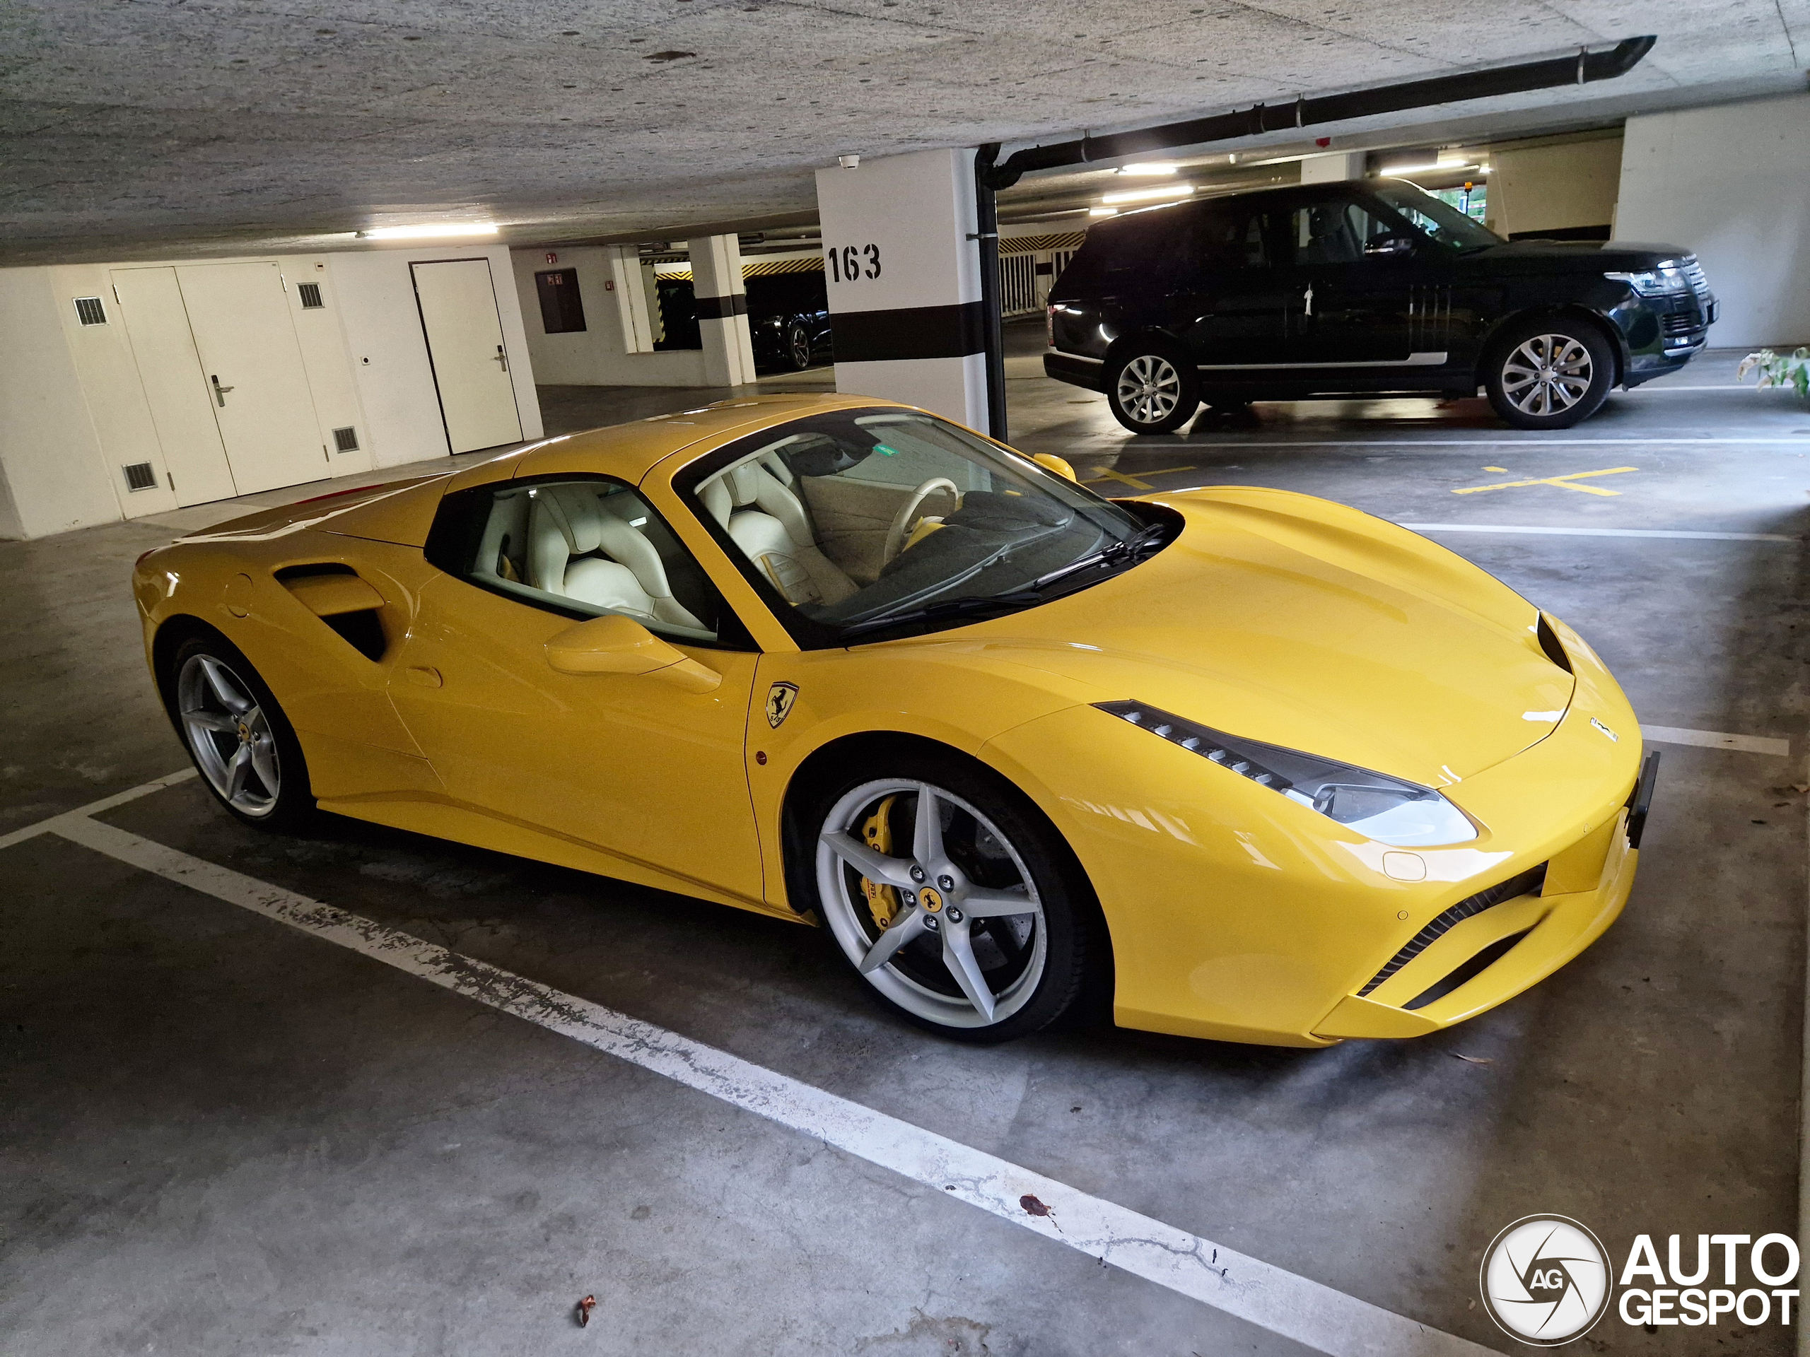
{"label": "front wheel of the yellow Ferrari, black tire and silver rim included", "polygon": [[805,814],[814,859],[800,885],[836,954],[894,1013],[997,1042],[1075,1002],[1104,952],[1097,906],[1068,845],[1015,789],[954,758],[898,756],[824,787]]}

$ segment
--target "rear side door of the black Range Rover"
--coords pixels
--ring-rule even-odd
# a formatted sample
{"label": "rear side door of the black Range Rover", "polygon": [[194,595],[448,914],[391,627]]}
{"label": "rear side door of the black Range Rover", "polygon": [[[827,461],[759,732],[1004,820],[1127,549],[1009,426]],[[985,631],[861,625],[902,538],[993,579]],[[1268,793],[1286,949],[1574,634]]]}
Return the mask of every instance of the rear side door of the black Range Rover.
{"label": "rear side door of the black Range Rover", "polygon": [[1278,214],[1262,201],[1200,204],[1176,300],[1205,382],[1287,362],[1291,279],[1278,268]]}

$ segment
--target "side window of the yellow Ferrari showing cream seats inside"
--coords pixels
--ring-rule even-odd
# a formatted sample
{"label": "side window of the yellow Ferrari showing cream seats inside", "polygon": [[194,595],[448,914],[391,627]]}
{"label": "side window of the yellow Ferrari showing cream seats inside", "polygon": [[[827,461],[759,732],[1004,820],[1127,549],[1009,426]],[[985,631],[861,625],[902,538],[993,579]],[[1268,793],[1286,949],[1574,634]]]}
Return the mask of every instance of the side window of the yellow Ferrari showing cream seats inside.
{"label": "side window of the yellow Ferrari showing cream seats inside", "polygon": [[565,615],[634,617],[675,641],[738,633],[704,568],[626,485],[503,483],[456,499],[427,541],[447,574]]}

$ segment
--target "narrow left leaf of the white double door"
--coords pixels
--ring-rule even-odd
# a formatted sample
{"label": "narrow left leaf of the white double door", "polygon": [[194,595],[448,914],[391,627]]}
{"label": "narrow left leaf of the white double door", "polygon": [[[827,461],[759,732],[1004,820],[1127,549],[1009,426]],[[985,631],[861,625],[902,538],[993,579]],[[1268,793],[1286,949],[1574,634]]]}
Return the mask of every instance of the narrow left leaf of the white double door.
{"label": "narrow left leaf of the white double door", "polygon": [[112,286],[176,503],[232,499],[239,487],[214,423],[214,398],[201,378],[176,270],[116,268]]}

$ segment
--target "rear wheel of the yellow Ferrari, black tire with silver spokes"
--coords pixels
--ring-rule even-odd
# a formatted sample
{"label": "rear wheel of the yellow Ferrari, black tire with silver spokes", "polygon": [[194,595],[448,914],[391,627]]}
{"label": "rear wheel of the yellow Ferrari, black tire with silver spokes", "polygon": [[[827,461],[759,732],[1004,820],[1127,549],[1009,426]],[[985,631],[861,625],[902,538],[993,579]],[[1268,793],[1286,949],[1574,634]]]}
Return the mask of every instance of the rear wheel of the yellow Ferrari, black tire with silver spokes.
{"label": "rear wheel of the yellow Ferrari, black tire with silver spokes", "polygon": [[[195,773],[226,814],[244,825],[279,830],[299,829],[315,814],[308,760],[295,727],[244,651],[219,633],[194,635],[176,648],[157,686]],[[203,689],[199,700],[192,691],[197,686]],[[237,693],[250,706],[235,713],[223,693]],[[215,716],[233,722],[235,729],[203,729],[203,720]],[[212,745],[212,756],[203,740]],[[248,751],[243,762],[250,767],[235,783],[241,747]],[[272,780],[277,783],[273,794]]]}

